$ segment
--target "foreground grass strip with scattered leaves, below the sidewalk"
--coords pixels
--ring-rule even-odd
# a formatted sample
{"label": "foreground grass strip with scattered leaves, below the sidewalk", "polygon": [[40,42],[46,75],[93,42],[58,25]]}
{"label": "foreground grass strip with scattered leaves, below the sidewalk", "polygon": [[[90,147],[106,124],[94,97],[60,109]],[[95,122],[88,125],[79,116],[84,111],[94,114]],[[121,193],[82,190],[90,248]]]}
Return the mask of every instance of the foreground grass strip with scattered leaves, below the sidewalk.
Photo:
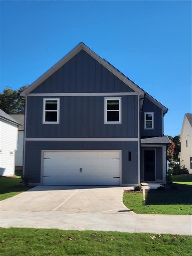
{"label": "foreground grass strip with scattered leaves, below the sidewalk", "polygon": [[184,235],[1,228],[0,237],[3,256],[191,255],[191,236]]}

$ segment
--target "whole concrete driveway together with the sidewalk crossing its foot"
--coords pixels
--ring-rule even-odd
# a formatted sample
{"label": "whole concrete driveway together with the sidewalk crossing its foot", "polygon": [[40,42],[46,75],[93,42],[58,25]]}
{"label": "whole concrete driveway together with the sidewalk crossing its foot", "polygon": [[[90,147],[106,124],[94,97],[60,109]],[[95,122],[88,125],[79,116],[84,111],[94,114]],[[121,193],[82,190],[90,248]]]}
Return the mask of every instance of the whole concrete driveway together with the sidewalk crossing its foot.
{"label": "whole concrete driveway together with the sidewalk crossing its foot", "polygon": [[191,235],[191,216],[135,214],[123,187],[37,186],[0,202],[0,227]]}

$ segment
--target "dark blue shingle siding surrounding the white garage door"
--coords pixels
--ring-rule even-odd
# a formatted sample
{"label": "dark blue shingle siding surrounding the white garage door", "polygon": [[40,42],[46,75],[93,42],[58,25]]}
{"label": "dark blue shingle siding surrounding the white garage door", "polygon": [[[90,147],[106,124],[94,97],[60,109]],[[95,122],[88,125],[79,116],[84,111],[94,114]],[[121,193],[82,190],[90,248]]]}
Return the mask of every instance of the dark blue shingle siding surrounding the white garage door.
{"label": "dark blue shingle siding surrounding the white garage door", "polygon": [[41,150],[122,150],[122,183],[138,184],[137,141],[26,141],[25,147],[25,175],[29,175],[30,183],[41,182]]}

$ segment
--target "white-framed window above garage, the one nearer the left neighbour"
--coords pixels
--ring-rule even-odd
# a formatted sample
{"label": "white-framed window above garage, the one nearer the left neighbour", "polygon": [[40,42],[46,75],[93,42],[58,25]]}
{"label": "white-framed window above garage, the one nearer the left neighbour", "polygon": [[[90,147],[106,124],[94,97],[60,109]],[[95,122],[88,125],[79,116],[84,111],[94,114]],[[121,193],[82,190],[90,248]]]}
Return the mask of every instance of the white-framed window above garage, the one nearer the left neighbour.
{"label": "white-framed window above garage, the one nearer the left neighbour", "polygon": [[59,98],[43,98],[43,124],[59,124]]}

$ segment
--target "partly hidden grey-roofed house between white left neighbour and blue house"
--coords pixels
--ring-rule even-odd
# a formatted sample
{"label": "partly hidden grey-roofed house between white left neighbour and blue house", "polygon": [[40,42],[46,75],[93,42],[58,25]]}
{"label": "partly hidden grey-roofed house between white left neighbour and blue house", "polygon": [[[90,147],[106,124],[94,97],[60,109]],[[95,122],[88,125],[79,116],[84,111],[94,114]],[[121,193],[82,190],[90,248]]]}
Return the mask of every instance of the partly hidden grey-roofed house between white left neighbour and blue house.
{"label": "partly hidden grey-roofed house between white left neighbour and blue house", "polygon": [[17,151],[15,152],[15,167],[22,170],[23,167],[23,143],[24,143],[24,115],[10,114],[20,125],[18,127]]}

